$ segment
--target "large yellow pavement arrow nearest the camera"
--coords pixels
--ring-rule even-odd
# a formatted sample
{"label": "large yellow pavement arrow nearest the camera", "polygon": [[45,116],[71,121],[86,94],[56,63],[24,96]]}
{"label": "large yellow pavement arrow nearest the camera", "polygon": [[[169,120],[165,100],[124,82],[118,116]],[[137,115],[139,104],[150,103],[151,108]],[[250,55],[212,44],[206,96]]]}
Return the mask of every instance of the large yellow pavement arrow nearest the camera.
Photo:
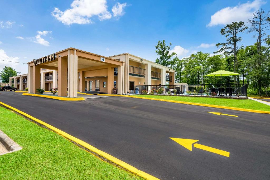
{"label": "large yellow pavement arrow nearest the camera", "polygon": [[[171,138],[171,139],[174,140],[175,142],[177,142],[178,144],[184,146],[185,148],[187,148],[190,151],[192,151],[192,144],[194,142],[199,141],[199,140],[194,140],[194,139],[182,139],[182,138]],[[195,148],[199,148],[199,149],[202,149],[205,151],[213,152],[215,154],[230,157],[230,152],[227,152],[227,151],[219,150],[219,149],[212,148],[212,147],[205,146],[205,145],[201,145],[198,143],[195,143],[193,146]]]}

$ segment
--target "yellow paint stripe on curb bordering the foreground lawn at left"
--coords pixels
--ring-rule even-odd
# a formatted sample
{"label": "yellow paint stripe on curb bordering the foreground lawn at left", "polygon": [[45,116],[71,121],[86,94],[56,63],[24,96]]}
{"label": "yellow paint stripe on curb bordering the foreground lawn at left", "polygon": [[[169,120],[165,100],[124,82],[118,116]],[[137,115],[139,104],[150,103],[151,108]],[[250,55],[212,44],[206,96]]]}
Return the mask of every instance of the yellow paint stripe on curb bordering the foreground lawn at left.
{"label": "yellow paint stripe on curb bordering the foreground lawn at left", "polygon": [[9,106],[9,105],[7,105],[5,103],[2,103],[1,101],[0,101],[0,104],[2,104],[3,106],[6,106],[6,107],[16,111],[17,113],[19,113],[19,114],[21,114],[21,115],[23,115],[25,117],[30,118],[33,121],[36,121],[39,124],[44,125],[45,127],[49,128],[50,130],[55,131],[56,133],[62,135],[63,137],[65,137],[65,138],[67,138],[67,139],[69,139],[69,140],[71,140],[73,142],[76,142],[77,144],[85,147],[86,149],[88,149],[88,150],[90,150],[92,152],[95,152],[96,154],[98,154],[98,155],[104,157],[105,159],[108,159],[109,161],[123,167],[124,169],[127,169],[130,172],[133,172],[134,174],[136,174],[138,176],[141,176],[141,177],[143,177],[145,179],[148,179],[148,180],[159,180],[158,178],[156,178],[156,177],[154,177],[154,176],[152,176],[150,174],[147,174],[146,172],[140,171],[139,169],[127,164],[126,162],[121,161],[120,159],[117,159],[117,158],[113,157],[112,155],[107,154],[106,152],[103,152],[103,151],[91,146],[90,144],[87,144],[86,142],[84,142],[84,141],[82,141],[82,140],[80,140],[80,139],[78,139],[78,138],[76,138],[76,137],[74,137],[72,135],[69,135],[68,133],[65,133],[64,131],[61,131],[58,128],[53,127],[50,124],[47,124],[47,123],[45,123],[45,122],[43,122],[43,121],[41,121],[41,120],[39,120],[39,119],[37,119],[37,118],[35,118],[33,116],[30,116],[29,114],[26,114],[26,113],[24,113],[24,112],[22,112],[22,111],[20,111],[20,110],[18,110],[16,108],[12,107],[12,106]]}

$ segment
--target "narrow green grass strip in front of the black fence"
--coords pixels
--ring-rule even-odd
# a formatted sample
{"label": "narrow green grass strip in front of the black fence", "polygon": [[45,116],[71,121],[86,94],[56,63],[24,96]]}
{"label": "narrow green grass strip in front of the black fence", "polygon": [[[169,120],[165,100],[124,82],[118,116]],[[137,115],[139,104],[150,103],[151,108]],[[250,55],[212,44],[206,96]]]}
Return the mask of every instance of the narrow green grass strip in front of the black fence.
{"label": "narrow green grass strip in front of the black fence", "polygon": [[221,98],[207,98],[207,97],[158,96],[158,95],[136,95],[136,96],[270,111],[270,106],[250,99],[221,99]]}

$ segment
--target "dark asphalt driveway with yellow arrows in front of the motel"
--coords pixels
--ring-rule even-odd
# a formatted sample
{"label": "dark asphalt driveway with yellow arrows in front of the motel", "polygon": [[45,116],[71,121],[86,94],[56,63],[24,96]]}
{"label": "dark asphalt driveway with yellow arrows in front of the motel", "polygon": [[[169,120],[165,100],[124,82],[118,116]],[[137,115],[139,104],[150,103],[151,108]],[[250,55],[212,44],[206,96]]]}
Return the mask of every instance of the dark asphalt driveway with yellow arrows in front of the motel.
{"label": "dark asphalt driveway with yellow arrows in front of the motel", "polygon": [[[0,101],[160,179],[270,179],[270,114],[129,97],[70,102],[9,91],[0,92]],[[230,157],[195,144],[190,151],[170,137],[199,140]]]}

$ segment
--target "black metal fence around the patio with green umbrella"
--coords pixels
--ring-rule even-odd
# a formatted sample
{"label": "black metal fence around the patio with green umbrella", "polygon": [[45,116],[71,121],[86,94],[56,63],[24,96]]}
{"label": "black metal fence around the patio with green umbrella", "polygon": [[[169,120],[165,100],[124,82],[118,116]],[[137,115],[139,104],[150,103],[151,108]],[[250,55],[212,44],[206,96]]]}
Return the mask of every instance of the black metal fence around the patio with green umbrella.
{"label": "black metal fence around the patio with green umbrella", "polygon": [[[160,89],[162,88],[162,89]],[[158,92],[158,89],[159,92]],[[194,84],[134,86],[135,94],[187,94],[208,96],[247,96],[247,84]]]}

